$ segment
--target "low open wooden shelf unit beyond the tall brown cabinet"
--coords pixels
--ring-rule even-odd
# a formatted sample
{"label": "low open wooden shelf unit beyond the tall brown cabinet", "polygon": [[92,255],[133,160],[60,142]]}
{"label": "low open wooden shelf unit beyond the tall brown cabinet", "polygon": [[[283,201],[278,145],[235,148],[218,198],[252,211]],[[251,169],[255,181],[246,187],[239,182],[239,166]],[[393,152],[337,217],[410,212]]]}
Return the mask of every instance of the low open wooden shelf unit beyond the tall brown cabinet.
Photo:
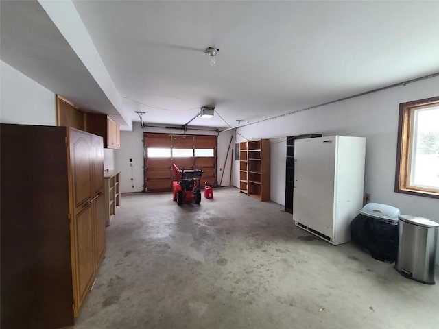
{"label": "low open wooden shelf unit beyond the tall brown cabinet", "polygon": [[104,180],[104,217],[106,226],[109,226],[112,216],[116,213],[116,207],[121,205],[121,173],[113,170],[106,171],[106,173],[104,173]]}

